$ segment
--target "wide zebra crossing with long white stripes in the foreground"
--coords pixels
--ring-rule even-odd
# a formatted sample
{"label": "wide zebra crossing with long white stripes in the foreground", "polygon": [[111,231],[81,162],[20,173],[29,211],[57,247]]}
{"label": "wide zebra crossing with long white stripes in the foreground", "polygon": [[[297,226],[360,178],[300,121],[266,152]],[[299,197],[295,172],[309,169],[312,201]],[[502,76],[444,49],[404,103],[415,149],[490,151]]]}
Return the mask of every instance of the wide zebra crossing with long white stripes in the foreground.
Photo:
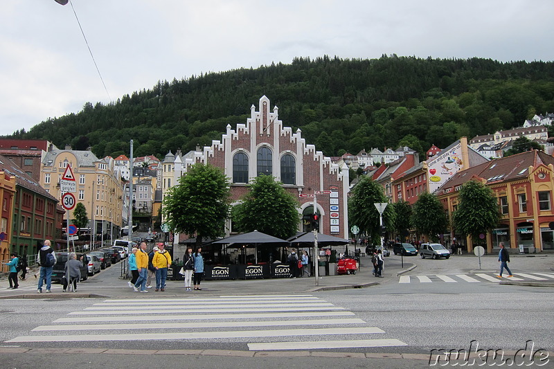
{"label": "wide zebra crossing with long white stripes in the foreground", "polygon": [[406,345],[379,338],[385,333],[311,295],[132,298],[94,303],[6,343],[229,340],[251,351]]}

